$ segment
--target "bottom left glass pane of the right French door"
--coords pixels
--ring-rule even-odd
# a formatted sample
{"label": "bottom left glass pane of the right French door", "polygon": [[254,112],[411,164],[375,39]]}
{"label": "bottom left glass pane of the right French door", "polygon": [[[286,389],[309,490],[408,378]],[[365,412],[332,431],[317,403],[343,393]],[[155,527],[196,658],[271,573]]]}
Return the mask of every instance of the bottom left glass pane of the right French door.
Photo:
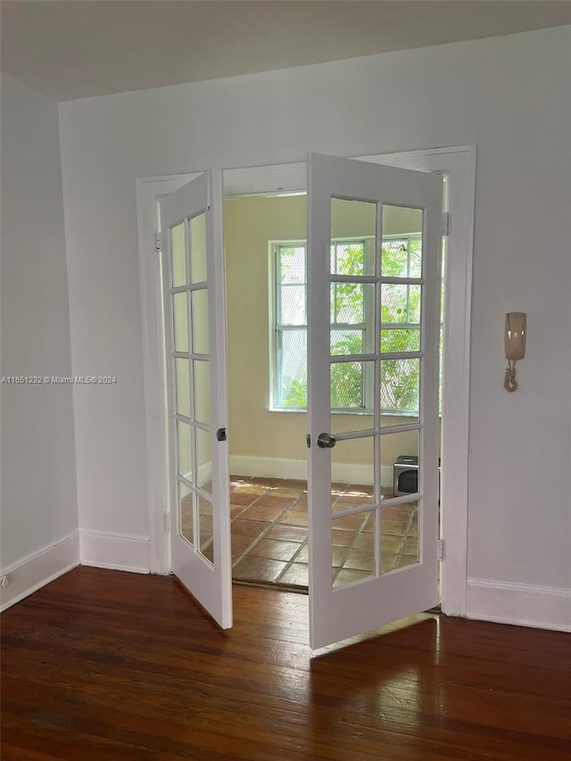
{"label": "bottom left glass pane of the right French door", "polygon": [[[331,521],[332,583],[334,588],[375,575],[375,510]],[[351,534],[351,543],[339,546],[335,534]]]}

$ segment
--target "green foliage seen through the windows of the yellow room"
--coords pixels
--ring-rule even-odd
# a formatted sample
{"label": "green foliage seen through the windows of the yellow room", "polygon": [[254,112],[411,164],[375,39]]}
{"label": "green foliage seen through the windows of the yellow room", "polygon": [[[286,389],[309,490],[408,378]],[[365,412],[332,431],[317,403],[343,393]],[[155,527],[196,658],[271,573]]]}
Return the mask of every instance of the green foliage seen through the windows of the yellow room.
{"label": "green foliage seen through the windows of the yellow room", "polygon": [[[420,237],[401,236],[384,240],[382,275],[384,277],[420,277]],[[294,281],[305,285],[305,270],[301,271],[301,244],[277,247],[277,288],[280,283]],[[304,247],[303,247],[304,253]],[[285,269],[287,268],[287,269]],[[334,242],[331,246],[331,272],[339,276],[373,274],[366,255],[365,241]],[[284,278],[285,274],[285,278]],[[283,287],[283,286],[282,286]],[[360,283],[333,283],[331,288],[331,356],[352,356],[351,361],[335,361],[331,366],[331,406],[337,410],[370,411],[372,388],[367,388],[364,364],[355,355],[378,351],[378,340],[370,335],[374,304],[373,286],[366,294]],[[381,351],[418,352],[420,348],[421,286],[402,284],[382,285]],[[278,302],[283,294],[279,294]],[[367,319],[368,318],[368,319]],[[369,323],[369,324],[367,324]],[[296,323],[299,325],[299,323]],[[417,327],[418,326],[418,327]],[[279,326],[287,331],[287,326]],[[279,364],[284,367],[284,362]],[[396,414],[418,412],[418,359],[382,360],[381,409]],[[370,385],[370,380],[369,380]],[[297,371],[277,377],[277,407],[304,409],[307,407],[307,369],[300,354]]]}

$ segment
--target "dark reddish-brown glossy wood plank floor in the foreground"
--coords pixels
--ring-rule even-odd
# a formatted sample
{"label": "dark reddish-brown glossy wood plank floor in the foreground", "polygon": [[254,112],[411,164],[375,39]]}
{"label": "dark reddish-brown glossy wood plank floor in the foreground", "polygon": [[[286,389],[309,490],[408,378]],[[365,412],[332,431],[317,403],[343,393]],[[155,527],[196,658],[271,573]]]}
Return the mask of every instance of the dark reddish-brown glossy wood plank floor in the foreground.
{"label": "dark reddish-brown glossy wood plank floor in the foreground", "polygon": [[571,758],[571,637],[422,615],[313,654],[308,599],[79,567],[2,616],[2,758]]}

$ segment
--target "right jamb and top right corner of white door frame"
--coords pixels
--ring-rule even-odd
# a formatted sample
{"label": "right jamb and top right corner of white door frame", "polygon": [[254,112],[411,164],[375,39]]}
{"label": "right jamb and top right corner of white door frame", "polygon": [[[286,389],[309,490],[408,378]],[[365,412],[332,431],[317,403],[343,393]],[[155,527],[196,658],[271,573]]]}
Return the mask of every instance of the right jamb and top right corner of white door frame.
{"label": "right jamb and top right corner of white door frame", "polygon": [[[476,146],[362,156],[403,169],[446,172],[449,178],[450,234],[446,259],[444,316],[442,534],[442,609],[466,615],[468,579],[468,435],[472,254],[476,191]],[[447,509],[450,506],[451,509]]]}

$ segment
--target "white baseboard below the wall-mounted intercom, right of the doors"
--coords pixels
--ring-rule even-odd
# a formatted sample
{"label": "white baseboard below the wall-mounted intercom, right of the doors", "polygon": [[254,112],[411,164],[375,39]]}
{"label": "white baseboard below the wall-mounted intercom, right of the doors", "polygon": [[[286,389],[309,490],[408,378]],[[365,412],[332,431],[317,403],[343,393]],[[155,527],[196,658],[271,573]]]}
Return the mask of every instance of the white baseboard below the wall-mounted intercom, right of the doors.
{"label": "white baseboard below the wall-mounted intercom, right of the doors", "polygon": [[571,632],[571,590],[468,579],[468,618]]}

